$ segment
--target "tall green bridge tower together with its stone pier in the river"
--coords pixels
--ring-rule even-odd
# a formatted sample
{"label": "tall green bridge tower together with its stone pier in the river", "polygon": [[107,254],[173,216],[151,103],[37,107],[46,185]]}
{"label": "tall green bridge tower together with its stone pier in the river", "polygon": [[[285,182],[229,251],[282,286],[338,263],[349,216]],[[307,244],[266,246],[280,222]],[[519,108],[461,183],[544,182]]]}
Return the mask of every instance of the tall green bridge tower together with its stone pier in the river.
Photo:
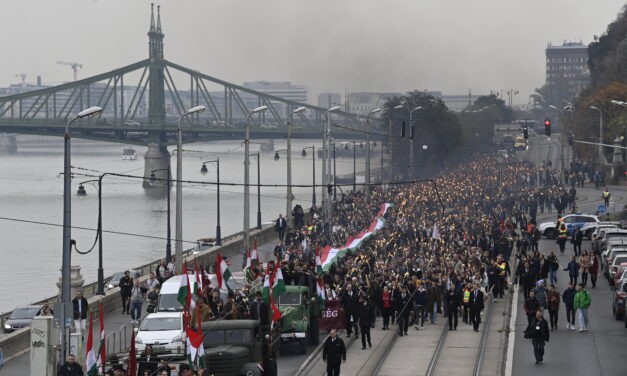
{"label": "tall green bridge tower together with its stone pier in the river", "polygon": [[[149,86],[148,86],[148,122],[151,125],[165,127],[165,89],[163,64],[163,34],[161,30],[161,7],[157,5],[157,22],[155,23],[155,5],[150,4],[150,30],[148,31],[148,46],[150,56]],[[161,133],[161,140],[166,140],[165,130]],[[152,193],[163,193],[164,184],[157,186],[150,184],[151,174],[159,179],[170,179],[170,153],[165,143],[151,143],[144,155],[144,183],[143,187]],[[157,189],[155,189],[157,188]]]}

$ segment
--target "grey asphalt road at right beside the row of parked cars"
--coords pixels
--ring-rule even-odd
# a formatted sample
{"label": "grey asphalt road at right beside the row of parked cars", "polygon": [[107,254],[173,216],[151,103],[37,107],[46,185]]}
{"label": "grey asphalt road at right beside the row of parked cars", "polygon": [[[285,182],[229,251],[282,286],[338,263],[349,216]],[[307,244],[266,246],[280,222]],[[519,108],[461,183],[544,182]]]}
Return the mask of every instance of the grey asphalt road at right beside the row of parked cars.
{"label": "grey asphalt road at right beside the row of parked cars", "polygon": [[[600,204],[594,191],[579,189],[587,199],[581,200],[579,207],[583,212],[593,212]],[[599,194],[600,196],[600,194]],[[616,207],[625,203],[625,192],[616,191]],[[619,205],[620,204],[620,205]],[[541,218],[541,217],[540,217]],[[554,251],[559,255],[559,248],[554,240],[543,239],[540,242],[541,253]],[[585,240],[582,249],[591,249],[590,241]],[[558,256],[560,264],[566,266],[574,255],[572,246],[567,245],[563,256]],[[560,271],[558,290],[562,292],[568,284],[568,272]],[[603,277],[597,281],[597,287],[588,291],[592,295],[589,309],[590,331],[578,332],[566,330],[566,311],[560,305],[558,330],[551,332],[550,341],[545,347],[544,364],[536,365],[531,341],[523,338],[527,318],[522,310],[523,296],[519,294],[518,316],[516,320],[513,375],[626,375],[625,349],[627,349],[627,329],[622,321],[616,321],[612,315],[613,291]],[[548,315],[547,315],[548,320]]]}

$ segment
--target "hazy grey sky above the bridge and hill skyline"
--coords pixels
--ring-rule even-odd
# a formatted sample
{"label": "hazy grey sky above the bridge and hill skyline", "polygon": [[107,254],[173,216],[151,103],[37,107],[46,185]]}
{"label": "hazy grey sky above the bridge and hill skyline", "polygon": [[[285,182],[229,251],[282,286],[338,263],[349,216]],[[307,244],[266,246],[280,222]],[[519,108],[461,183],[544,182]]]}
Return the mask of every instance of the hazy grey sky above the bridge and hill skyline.
{"label": "hazy grey sky above the bridge and hill skyline", "polygon": [[[545,80],[547,42],[589,43],[625,0],[162,0],[167,59],[234,83],[324,91],[518,89]],[[0,85],[148,56],[148,0],[2,0]]]}

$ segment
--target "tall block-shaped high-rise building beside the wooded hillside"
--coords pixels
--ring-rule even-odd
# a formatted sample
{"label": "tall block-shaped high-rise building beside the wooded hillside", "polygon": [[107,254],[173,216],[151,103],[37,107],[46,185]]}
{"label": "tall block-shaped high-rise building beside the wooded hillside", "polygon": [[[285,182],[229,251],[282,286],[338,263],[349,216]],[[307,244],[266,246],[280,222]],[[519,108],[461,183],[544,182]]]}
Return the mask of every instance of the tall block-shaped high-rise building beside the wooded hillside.
{"label": "tall block-shaped high-rise building beside the wooded hillside", "polygon": [[552,103],[572,100],[590,82],[588,46],[581,42],[549,43],[546,47],[546,85]]}

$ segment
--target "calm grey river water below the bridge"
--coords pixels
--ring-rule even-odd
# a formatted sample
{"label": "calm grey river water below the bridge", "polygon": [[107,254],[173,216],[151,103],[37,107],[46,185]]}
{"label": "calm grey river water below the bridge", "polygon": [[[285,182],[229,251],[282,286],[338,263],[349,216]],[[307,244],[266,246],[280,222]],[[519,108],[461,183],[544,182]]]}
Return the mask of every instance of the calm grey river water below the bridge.
{"label": "calm grey river water below the bridge", "polygon": [[[259,140],[255,140],[259,141]],[[304,146],[319,141],[294,140],[292,142],[293,184],[312,183],[311,153],[301,156]],[[72,140],[72,165],[102,172],[142,175],[145,147],[135,147],[137,160],[123,161],[122,149],[116,143]],[[285,141],[276,141],[275,149],[284,149]],[[172,151],[174,148],[170,148]],[[239,141],[220,141],[186,144],[184,149],[183,179],[215,181],[215,166],[208,164],[206,176],[199,173],[201,161],[220,157],[222,182],[242,183],[243,146]],[[258,145],[251,145],[256,152]],[[193,150],[193,151],[192,151]],[[273,152],[261,152],[261,183],[285,184],[287,162],[285,153],[279,161]],[[363,171],[363,160],[357,161],[357,170]],[[373,168],[378,167],[373,159]],[[173,175],[176,158],[172,158]],[[53,137],[18,136],[18,152],[0,155],[0,217],[31,220],[52,224],[63,223],[63,139]],[[322,165],[316,160],[316,182],[320,183]],[[352,158],[338,158],[337,173],[353,171]],[[75,170],[75,172],[80,172]],[[87,171],[85,171],[87,172]],[[251,158],[251,183],[257,182],[256,158]],[[72,183],[72,225],[96,228],[98,197],[95,185],[87,184],[87,197],[75,195],[78,182],[88,177],[76,177]],[[172,190],[172,237],[174,238],[175,191]],[[256,225],[257,190],[251,187],[251,228]],[[339,193],[339,192],[338,192]],[[311,205],[311,188],[295,188],[294,204],[304,208]],[[222,235],[242,230],[243,188],[221,187]],[[317,191],[318,204],[321,200]],[[107,176],[103,180],[103,229],[137,235],[165,238],[166,200],[145,194],[141,180]],[[202,237],[215,236],[216,187],[214,185],[189,185],[183,187],[183,239],[191,242]],[[262,188],[262,221],[275,219],[285,212],[285,188]],[[89,249],[95,232],[72,230],[80,250]],[[104,274],[145,264],[165,255],[165,240],[104,233]],[[174,252],[174,241],[172,242]],[[58,293],[56,282],[60,276],[62,256],[62,228],[0,219],[0,312],[29,304]],[[97,247],[86,255],[72,253],[72,265],[81,266],[86,283],[96,280],[98,267]]]}

